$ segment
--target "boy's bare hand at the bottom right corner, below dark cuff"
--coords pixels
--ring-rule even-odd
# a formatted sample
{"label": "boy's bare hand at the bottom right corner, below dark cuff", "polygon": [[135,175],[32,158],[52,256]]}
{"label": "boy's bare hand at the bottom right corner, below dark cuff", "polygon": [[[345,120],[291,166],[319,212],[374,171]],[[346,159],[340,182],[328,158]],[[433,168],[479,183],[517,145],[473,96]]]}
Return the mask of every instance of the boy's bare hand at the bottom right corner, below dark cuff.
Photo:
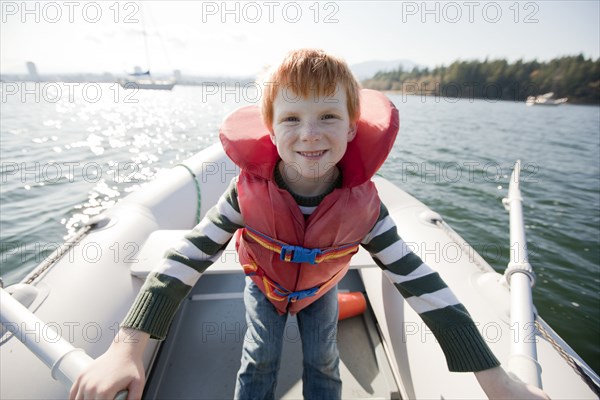
{"label": "boy's bare hand at the bottom right corner, below dark cuff", "polygon": [[542,389],[512,379],[502,367],[475,372],[475,377],[490,399],[550,400]]}

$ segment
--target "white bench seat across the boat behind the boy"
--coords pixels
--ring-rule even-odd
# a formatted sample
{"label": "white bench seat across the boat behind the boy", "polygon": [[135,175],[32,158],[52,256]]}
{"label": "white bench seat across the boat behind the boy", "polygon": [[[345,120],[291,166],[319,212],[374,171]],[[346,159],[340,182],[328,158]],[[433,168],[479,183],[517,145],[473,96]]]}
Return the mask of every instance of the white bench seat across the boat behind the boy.
{"label": "white bench seat across the boat behind the boy", "polygon": [[[137,262],[131,264],[131,274],[141,279],[146,279],[146,276],[152,269],[162,260],[165,252],[174,247],[181,238],[189,230],[157,230],[148,236],[148,239],[142,246],[141,250],[135,257]],[[369,253],[360,247],[358,253],[352,257],[350,269],[359,268],[378,268],[373,262]],[[235,251],[235,243],[233,240],[229,242],[227,248],[210,268],[204,272],[205,274],[242,274],[243,270],[238,262],[237,252]]]}

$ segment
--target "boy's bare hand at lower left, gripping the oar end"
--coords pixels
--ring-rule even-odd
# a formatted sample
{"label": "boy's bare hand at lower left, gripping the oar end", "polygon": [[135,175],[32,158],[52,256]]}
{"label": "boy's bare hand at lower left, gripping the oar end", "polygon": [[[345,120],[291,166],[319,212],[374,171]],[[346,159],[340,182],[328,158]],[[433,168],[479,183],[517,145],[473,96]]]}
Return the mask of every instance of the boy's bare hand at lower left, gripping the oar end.
{"label": "boy's bare hand at lower left, gripping the oar end", "polygon": [[142,356],[149,335],[127,329],[121,329],[119,334],[130,340],[113,342],[94,360],[71,387],[70,400],[113,400],[124,389],[129,391],[127,400],[142,397],[145,384]]}

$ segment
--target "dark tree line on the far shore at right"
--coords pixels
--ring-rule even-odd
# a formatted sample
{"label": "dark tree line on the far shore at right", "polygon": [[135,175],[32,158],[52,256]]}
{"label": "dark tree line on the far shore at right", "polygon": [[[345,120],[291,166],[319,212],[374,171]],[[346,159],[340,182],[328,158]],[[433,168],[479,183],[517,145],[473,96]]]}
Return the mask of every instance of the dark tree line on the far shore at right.
{"label": "dark tree line on the far shore at right", "polygon": [[600,58],[594,61],[580,54],[547,62],[486,59],[412,71],[399,67],[378,72],[362,85],[407,94],[512,101],[554,92],[555,98],[567,97],[569,103],[600,105]]}

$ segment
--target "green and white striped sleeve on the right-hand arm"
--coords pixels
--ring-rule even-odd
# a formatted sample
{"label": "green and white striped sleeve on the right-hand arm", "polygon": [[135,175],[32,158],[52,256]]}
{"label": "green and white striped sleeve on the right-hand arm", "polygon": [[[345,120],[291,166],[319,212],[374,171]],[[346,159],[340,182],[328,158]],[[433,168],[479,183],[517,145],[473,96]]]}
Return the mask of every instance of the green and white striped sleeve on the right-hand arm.
{"label": "green and white striped sleeve on the right-hand arm", "polygon": [[362,242],[373,260],[431,329],[450,371],[481,371],[500,365],[466,308],[439,274],[400,238],[385,205]]}

